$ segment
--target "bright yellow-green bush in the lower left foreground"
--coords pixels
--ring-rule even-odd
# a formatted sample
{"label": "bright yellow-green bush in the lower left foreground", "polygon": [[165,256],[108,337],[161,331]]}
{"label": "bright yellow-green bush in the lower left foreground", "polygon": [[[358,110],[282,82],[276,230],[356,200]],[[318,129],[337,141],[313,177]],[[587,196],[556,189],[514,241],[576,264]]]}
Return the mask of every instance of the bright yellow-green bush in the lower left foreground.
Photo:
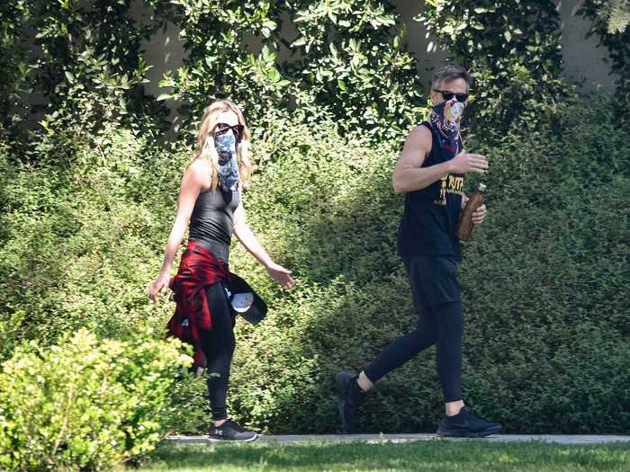
{"label": "bright yellow-green bush in the lower left foreground", "polygon": [[109,470],[146,454],[164,433],[175,372],[190,361],[178,342],[99,343],[86,330],[16,349],[0,372],[0,466]]}

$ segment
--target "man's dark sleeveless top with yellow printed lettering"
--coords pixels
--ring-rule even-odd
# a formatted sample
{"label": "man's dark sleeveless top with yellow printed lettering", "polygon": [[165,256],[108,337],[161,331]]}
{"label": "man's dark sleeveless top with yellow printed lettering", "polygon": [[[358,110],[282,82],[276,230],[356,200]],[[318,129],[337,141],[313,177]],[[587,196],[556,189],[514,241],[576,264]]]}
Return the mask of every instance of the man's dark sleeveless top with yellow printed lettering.
{"label": "man's dark sleeveless top with yellow printed lettering", "polygon": [[[422,167],[449,160],[443,155],[435,131],[431,130],[433,145]],[[462,149],[457,142],[458,152]],[[405,209],[398,230],[398,252],[401,256],[440,255],[455,261],[462,259],[462,247],[455,236],[455,227],[462,209],[464,174],[448,174],[444,179],[418,191],[405,193]]]}

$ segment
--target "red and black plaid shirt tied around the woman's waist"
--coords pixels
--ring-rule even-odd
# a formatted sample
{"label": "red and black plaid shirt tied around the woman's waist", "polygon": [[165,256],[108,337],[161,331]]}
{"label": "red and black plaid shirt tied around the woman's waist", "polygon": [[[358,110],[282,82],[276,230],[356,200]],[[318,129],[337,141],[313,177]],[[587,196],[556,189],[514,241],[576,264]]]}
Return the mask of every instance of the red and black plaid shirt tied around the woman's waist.
{"label": "red and black plaid shirt tied around the woman's waist", "polygon": [[[212,315],[205,288],[219,281],[229,283],[227,264],[221,263],[210,250],[189,241],[179,270],[169,283],[175,299],[175,315],[168,320],[168,333],[193,344],[194,367],[205,367],[199,332],[212,328]],[[234,323],[234,316],[232,316]]]}

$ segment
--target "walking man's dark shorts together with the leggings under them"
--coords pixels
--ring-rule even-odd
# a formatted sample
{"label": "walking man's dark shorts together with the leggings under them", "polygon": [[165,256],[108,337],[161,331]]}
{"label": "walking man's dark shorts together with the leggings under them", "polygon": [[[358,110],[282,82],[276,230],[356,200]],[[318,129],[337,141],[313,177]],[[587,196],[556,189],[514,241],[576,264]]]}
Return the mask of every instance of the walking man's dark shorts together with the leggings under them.
{"label": "walking man's dark shorts together with the leggings under them", "polygon": [[412,333],[387,345],[364,371],[367,378],[376,383],[419,352],[437,344],[437,374],[444,401],[455,402],[462,399],[464,314],[456,264],[441,259],[444,258],[416,257],[405,261],[418,311],[418,325]]}

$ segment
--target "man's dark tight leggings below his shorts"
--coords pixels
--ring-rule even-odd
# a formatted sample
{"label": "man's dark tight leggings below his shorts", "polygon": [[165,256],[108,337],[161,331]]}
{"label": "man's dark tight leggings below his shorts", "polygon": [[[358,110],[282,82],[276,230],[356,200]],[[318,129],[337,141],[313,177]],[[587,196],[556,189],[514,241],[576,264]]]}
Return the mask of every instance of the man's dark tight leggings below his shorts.
{"label": "man's dark tight leggings below his shorts", "polygon": [[[408,267],[409,269],[409,267]],[[388,372],[400,367],[419,352],[437,343],[437,375],[445,402],[462,399],[462,334],[464,314],[461,301],[429,305],[419,296],[412,273],[411,289],[418,311],[418,326],[388,344],[365,368],[365,375],[376,383]]]}

